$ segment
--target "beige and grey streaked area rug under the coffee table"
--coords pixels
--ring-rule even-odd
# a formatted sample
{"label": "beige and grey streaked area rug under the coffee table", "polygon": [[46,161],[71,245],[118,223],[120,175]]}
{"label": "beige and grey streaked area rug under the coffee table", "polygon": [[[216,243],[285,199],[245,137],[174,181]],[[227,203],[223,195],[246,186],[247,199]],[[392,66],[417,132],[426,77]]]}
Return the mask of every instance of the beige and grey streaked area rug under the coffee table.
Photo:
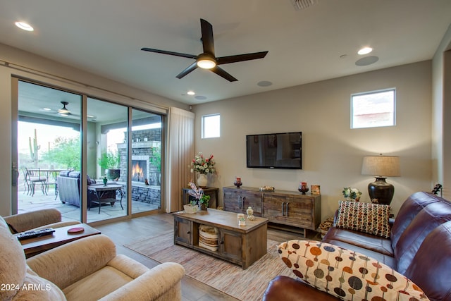
{"label": "beige and grey streaked area rug under the coffee table", "polygon": [[268,253],[247,269],[187,247],[174,245],[173,231],[131,242],[125,247],[156,262],[178,262],[186,275],[239,300],[261,300],[269,281],[278,275],[292,276],[276,250],[280,242],[268,240]]}

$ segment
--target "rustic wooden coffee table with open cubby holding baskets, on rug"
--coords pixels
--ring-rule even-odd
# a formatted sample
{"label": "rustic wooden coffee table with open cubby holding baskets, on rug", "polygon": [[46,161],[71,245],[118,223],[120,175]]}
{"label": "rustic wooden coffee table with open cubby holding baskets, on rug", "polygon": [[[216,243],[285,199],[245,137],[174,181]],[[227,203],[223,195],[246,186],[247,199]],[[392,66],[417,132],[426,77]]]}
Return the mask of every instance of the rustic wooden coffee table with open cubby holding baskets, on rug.
{"label": "rustic wooden coffee table with open cubby holding baskets, on rug", "polygon": [[[237,214],[209,208],[195,214],[174,213],[174,244],[190,247],[247,269],[266,254],[268,219],[256,217],[238,226]],[[218,250],[199,246],[199,226],[218,229]]]}

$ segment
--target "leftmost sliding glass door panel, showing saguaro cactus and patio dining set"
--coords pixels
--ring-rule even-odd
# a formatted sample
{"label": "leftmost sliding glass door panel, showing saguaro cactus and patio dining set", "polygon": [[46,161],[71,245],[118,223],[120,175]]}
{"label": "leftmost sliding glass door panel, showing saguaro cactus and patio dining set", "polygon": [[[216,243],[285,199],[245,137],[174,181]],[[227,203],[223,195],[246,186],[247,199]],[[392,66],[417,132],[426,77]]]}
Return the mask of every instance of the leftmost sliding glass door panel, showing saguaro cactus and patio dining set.
{"label": "leftmost sliding glass door panel, showing saguaro cactus and patio dining set", "polygon": [[80,194],[65,193],[78,191],[77,179],[63,183],[63,195],[57,179],[61,171],[80,171],[81,104],[80,94],[18,81],[18,213],[56,208],[80,221]]}

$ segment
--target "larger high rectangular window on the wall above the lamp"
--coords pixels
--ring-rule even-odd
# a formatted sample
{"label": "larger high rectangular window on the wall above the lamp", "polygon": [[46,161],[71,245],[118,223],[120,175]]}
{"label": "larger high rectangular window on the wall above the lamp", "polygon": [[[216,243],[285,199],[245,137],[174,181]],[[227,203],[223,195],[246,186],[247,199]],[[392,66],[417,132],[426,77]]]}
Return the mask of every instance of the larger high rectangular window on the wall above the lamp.
{"label": "larger high rectangular window on the wall above the lamp", "polygon": [[351,95],[351,128],[395,125],[395,89]]}

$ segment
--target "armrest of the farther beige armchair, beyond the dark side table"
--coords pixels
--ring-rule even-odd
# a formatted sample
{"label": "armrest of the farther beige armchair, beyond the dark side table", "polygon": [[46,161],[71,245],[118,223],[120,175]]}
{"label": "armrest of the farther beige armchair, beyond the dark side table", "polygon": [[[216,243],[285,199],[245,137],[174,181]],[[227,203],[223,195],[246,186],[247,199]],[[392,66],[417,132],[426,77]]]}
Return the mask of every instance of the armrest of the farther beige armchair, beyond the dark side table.
{"label": "armrest of the farther beige armchair, beyond the dark side table", "polygon": [[[27,231],[49,223],[58,223],[61,221],[61,212],[57,209],[42,209],[23,214],[16,214],[4,217],[11,232],[15,229],[17,232]],[[13,226],[13,229],[11,229]]]}

